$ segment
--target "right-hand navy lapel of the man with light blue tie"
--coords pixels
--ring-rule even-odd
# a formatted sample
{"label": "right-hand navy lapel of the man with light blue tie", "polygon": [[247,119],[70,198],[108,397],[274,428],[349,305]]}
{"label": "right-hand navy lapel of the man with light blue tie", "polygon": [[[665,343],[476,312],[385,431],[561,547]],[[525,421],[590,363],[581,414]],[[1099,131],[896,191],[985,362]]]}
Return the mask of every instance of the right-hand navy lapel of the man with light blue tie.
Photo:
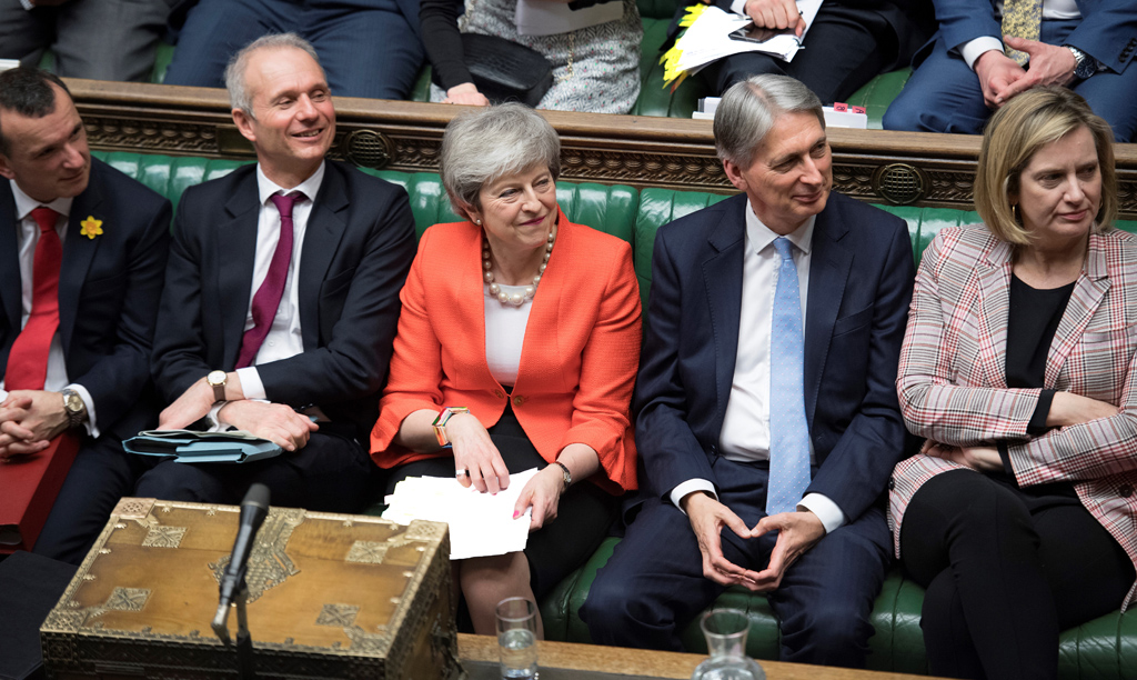
{"label": "right-hand navy lapel of the man with light blue tie", "polygon": [[810,292],[805,304],[805,418],[813,424],[818,391],[833,337],[833,324],[841,307],[853,251],[841,244],[848,227],[837,215],[832,198],[813,225],[810,257]]}

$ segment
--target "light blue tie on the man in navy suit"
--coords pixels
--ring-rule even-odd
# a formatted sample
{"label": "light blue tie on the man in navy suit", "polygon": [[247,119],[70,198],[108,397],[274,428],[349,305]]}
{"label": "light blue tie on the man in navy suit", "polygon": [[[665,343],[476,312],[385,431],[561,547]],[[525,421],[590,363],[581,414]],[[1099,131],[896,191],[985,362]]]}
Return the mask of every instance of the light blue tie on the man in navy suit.
{"label": "light blue tie on the man in navy suit", "polygon": [[794,244],[774,239],[781,256],[770,338],[770,489],[766,514],[797,509],[810,486],[810,426],[805,422],[805,341]]}

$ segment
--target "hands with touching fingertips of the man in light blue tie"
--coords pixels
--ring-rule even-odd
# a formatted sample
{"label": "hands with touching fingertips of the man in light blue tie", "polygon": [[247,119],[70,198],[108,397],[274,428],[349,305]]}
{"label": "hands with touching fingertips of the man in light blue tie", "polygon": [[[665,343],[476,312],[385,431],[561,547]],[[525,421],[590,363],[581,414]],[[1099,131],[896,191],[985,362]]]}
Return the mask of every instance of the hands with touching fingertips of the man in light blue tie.
{"label": "hands with touching fingertips of the man in light blue tie", "polygon": [[[683,498],[683,505],[703,554],[703,575],[723,586],[741,586],[755,592],[775,590],[786,570],[825,536],[821,520],[807,511],[769,515],[750,529],[733,511],[706,494],[690,494]],[[727,559],[722,553],[723,526],[742,539],[777,531],[778,540],[766,567],[753,571]]]}

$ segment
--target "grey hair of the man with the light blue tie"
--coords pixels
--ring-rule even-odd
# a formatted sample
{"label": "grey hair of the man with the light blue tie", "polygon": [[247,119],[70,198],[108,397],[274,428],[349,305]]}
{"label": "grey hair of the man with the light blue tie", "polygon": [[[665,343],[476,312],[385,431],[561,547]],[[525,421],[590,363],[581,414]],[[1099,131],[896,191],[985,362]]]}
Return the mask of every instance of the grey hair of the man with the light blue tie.
{"label": "grey hair of the man with the light blue tie", "polygon": [[714,147],[719,158],[749,167],[754,151],[786,114],[808,113],[825,128],[821,100],[812,90],[786,75],[762,74],[735,83],[722,96],[714,114]]}

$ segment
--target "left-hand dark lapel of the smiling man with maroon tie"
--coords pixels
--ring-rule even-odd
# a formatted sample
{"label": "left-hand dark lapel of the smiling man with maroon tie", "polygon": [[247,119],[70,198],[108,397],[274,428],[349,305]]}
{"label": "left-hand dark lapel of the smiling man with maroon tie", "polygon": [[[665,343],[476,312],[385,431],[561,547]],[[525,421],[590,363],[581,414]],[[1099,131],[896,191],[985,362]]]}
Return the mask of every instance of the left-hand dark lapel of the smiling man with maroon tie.
{"label": "left-hand dark lapel of the smiling man with maroon tie", "polygon": [[222,291],[221,314],[224,333],[225,366],[236,364],[244,334],[244,320],[249,313],[252,291],[252,269],[257,252],[257,221],[259,202],[256,171],[238,184],[225,202],[225,214],[217,224],[182,225],[183,229],[217,230],[217,290]]}

